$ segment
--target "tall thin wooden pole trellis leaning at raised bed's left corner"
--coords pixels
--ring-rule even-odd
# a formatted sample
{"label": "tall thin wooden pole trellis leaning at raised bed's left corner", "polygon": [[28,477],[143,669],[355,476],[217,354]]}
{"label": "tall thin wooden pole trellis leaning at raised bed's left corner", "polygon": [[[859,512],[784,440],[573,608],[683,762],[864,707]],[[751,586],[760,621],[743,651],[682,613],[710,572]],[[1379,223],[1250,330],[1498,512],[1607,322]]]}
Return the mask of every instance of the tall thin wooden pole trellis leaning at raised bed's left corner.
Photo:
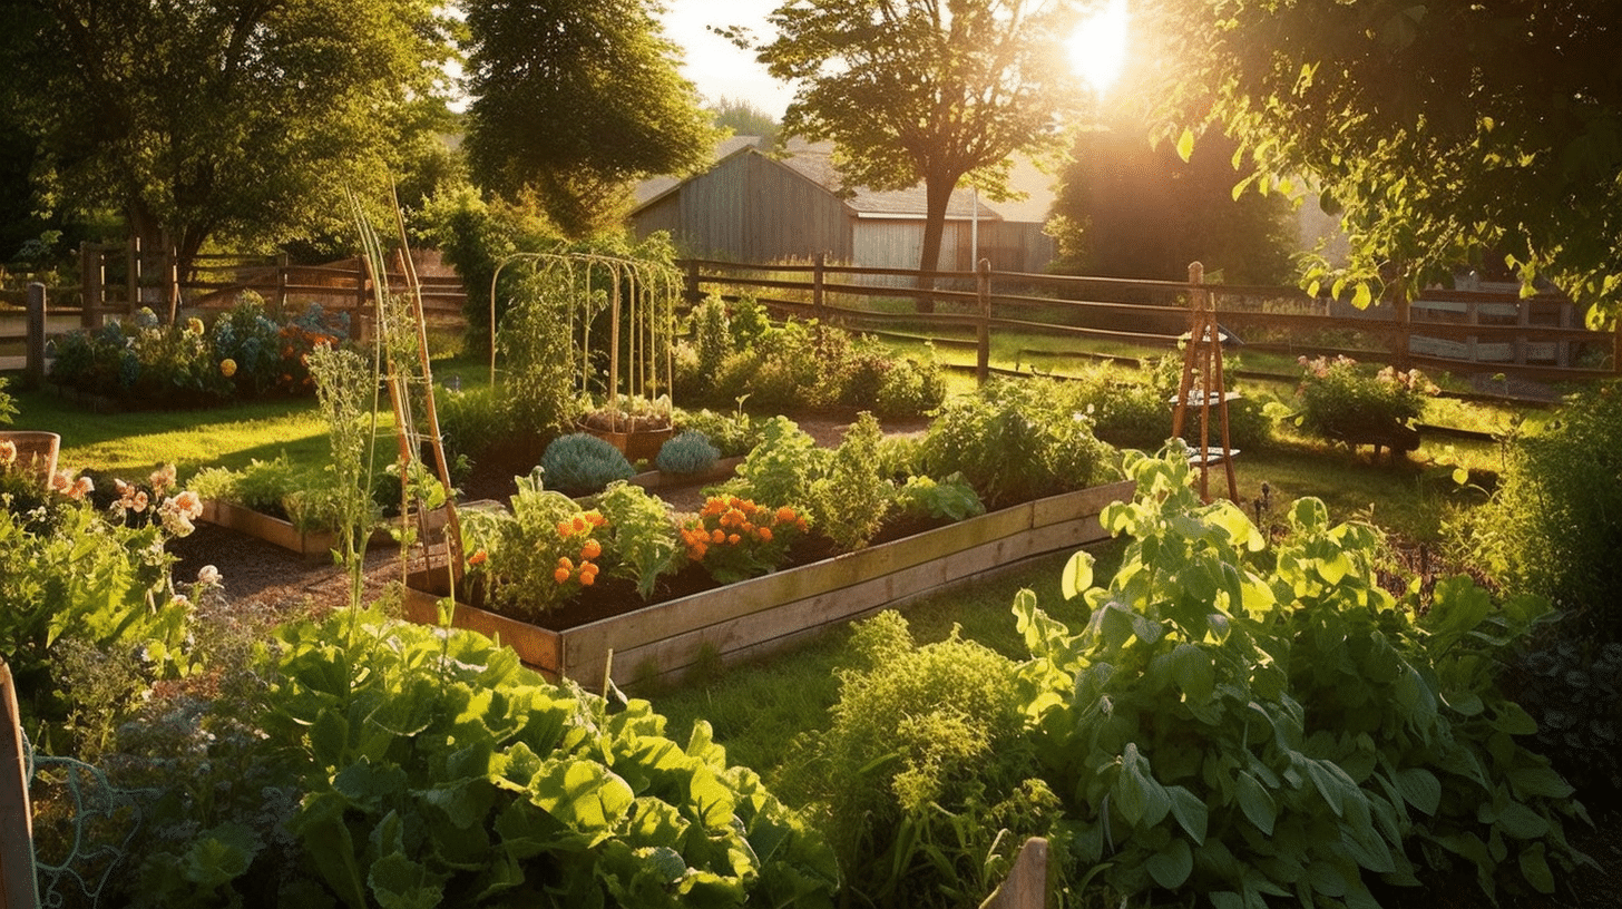
{"label": "tall thin wooden pole trellis leaning at raised bed's left corner", "polygon": [[[357,218],[358,218],[357,205]],[[466,562],[462,558],[462,529],[456,515],[456,500],[451,490],[451,466],[444,456],[444,440],[440,432],[440,412],[433,399],[433,365],[428,355],[427,320],[422,310],[422,286],[417,279],[417,268],[407,253],[406,221],[396,205],[396,227],[399,229],[401,247],[399,268],[406,278],[406,291],[391,292],[388,286],[388,269],[384,268],[384,252],[376,234],[362,219],[362,263],[370,271],[373,294],[378,312],[378,344],[381,346],[381,367],[384,383],[389,390],[389,404],[394,411],[394,435],[399,442],[401,466],[401,505],[402,515],[412,515],[417,521],[417,544],[422,547],[423,567],[431,575],[436,568],[433,558],[433,532],[441,531],[444,571],[451,589],[462,581]],[[431,456],[433,477],[441,484],[444,498],[430,505],[420,493],[414,495],[423,476],[425,454]],[[440,523],[435,524],[435,515]],[[401,547],[402,560],[409,570],[410,547]]]}

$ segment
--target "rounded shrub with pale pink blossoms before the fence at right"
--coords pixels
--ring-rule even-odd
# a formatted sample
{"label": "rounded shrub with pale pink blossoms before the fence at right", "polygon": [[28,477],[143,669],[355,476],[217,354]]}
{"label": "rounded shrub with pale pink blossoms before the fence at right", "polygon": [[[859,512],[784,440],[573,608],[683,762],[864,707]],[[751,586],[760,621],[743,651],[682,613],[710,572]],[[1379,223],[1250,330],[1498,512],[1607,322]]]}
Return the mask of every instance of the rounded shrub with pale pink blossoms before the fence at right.
{"label": "rounded shrub with pale pink blossoms before the fence at right", "polygon": [[1374,429],[1406,425],[1424,414],[1435,386],[1419,370],[1385,367],[1372,377],[1346,357],[1301,357],[1306,377],[1296,388],[1296,424],[1328,440],[1361,440]]}

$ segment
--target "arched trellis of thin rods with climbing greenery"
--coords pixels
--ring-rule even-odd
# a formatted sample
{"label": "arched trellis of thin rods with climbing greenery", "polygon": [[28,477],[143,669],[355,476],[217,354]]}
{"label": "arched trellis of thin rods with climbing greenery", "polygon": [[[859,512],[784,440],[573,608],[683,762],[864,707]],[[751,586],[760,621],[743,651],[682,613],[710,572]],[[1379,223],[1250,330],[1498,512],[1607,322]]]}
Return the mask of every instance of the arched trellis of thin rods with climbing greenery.
{"label": "arched trellis of thin rods with climbing greenery", "polygon": [[[571,347],[577,367],[576,391],[592,391],[592,360],[607,354],[603,412],[610,419],[626,414],[621,396],[654,401],[668,396],[675,381],[676,304],[686,282],[675,266],[597,253],[514,253],[490,276],[490,385],[496,373],[496,287],[508,265],[529,263],[545,279],[558,281],[571,299],[566,307]],[[595,317],[608,310],[608,338],[595,338]]]}

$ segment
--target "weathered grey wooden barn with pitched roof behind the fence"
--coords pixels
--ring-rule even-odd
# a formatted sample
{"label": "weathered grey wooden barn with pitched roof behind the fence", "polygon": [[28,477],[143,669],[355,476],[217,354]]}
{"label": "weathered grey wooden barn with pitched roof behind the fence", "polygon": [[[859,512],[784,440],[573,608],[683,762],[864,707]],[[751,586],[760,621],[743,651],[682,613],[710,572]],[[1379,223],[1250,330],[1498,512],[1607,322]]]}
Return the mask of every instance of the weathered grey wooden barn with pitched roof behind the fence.
{"label": "weathered grey wooden barn with pitched roof behind the fence", "polygon": [[[976,258],[999,271],[1043,271],[1053,240],[1041,232],[1051,190],[1033,167],[1022,203],[988,203],[957,190],[941,240],[942,271],[972,271]],[[691,256],[770,263],[808,260],[863,268],[918,268],[923,253],[923,187],[899,192],[843,190],[832,144],[792,140],[762,148],[733,136],[715,164],[686,180],[668,177],[636,188],[631,224],[637,237],[667,230]],[[978,255],[976,255],[978,253]]]}

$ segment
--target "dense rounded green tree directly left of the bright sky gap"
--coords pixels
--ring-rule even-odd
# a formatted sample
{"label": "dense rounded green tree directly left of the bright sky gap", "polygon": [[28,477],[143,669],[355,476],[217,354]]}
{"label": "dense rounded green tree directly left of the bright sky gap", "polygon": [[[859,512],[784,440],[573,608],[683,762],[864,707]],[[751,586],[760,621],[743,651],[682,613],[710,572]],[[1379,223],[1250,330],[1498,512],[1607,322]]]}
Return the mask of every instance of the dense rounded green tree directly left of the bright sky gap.
{"label": "dense rounded green tree directly left of the bright sky gap", "polygon": [[715,130],[650,0],[466,0],[475,180],[534,190],[573,235],[618,224],[629,185],[707,162]]}

